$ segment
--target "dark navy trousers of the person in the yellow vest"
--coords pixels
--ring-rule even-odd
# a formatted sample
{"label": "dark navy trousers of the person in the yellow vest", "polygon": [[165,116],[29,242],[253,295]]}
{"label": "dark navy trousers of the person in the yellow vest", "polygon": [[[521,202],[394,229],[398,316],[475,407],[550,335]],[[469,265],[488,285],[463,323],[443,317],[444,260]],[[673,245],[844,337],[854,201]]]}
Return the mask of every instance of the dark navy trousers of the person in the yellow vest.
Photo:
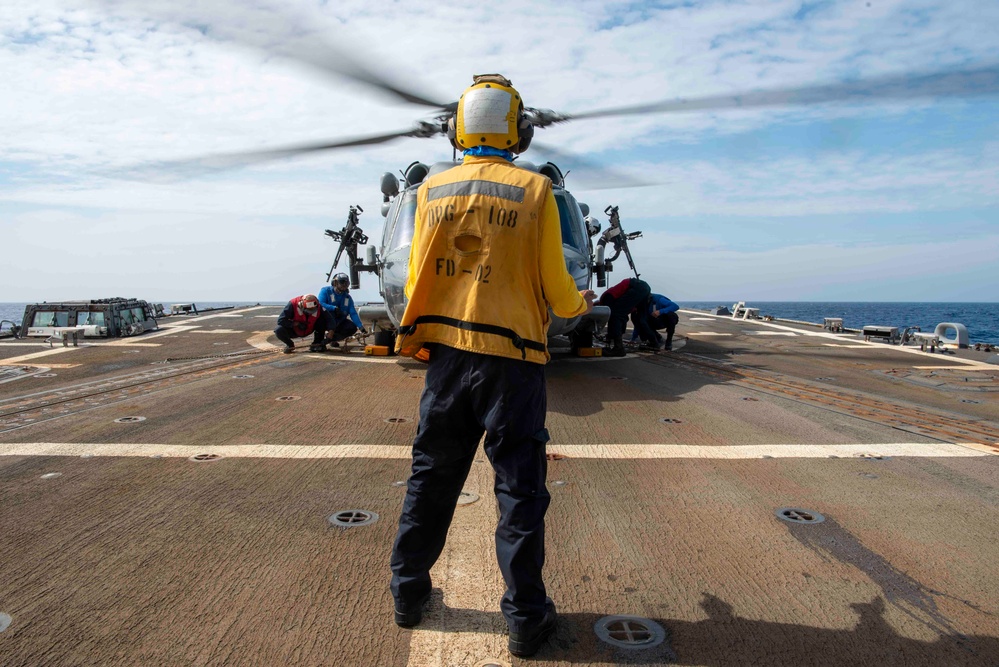
{"label": "dark navy trousers of the person in the yellow vest", "polygon": [[506,582],[500,602],[513,632],[537,625],[547,595],[544,366],[433,346],[413,441],[413,470],[392,549],[392,595],[402,608],[430,592],[458,495],[482,434],[496,472],[496,559]]}

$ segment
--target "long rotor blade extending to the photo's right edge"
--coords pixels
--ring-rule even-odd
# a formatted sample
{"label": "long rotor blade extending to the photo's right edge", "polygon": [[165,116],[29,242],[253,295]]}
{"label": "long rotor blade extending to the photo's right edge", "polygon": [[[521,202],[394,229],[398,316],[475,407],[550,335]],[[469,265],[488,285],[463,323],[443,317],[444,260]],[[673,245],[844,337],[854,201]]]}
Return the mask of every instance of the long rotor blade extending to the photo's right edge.
{"label": "long rotor blade extending to the photo's right edge", "polygon": [[889,75],[823,86],[776,88],[734,95],[663,100],[651,104],[600,109],[566,114],[566,116],[568,120],[581,120],[649,113],[806,106],[827,102],[866,103],[927,97],[978,97],[996,94],[999,94],[999,65],[936,74]]}

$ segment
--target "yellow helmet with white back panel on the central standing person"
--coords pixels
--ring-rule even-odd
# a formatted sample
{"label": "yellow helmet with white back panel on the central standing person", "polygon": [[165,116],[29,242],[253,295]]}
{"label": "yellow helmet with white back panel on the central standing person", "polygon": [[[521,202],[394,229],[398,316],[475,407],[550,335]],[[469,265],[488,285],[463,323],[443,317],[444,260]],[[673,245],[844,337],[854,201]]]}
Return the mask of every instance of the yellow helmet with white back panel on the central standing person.
{"label": "yellow helmet with white back panel on the central standing person", "polygon": [[534,126],[524,117],[524,101],[500,74],[477,74],[461,94],[458,111],[448,121],[455,148],[492,146],[513,153],[527,150]]}

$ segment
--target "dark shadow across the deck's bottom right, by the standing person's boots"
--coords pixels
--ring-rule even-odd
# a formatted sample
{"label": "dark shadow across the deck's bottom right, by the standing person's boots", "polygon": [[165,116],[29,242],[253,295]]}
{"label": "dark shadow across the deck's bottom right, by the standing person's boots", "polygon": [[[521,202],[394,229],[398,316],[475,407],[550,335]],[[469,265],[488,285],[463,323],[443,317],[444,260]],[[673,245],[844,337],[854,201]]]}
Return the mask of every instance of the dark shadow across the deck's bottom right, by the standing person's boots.
{"label": "dark shadow across the deck's bottom right, by the standing person's boots", "polygon": [[[436,593],[436,591],[435,591]],[[442,602],[437,601],[438,605]],[[482,632],[504,631],[500,612],[447,609],[447,622],[440,608],[432,608],[421,629]],[[669,604],[662,605],[665,608]],[[987,635],[939,635],[931,641],[900,635],[884,617],[881,597],[850,605],[857,622],[850,629],[817,628],[795,623],[777,623],[742,618],[734,607],[710,593],[703,593],[701,608],[708,618],[700,621],[654,618],[666,630],[663,643],[651,648],[617,648],[600,641],[594,632],[606,614],[560,614],[555,635],[544,644],[536,661],[560,664],[698,665],[704,667],[842,667],[843,665],[999,665],[999,637]],[[514,664],[527,664],[514,661]]]}

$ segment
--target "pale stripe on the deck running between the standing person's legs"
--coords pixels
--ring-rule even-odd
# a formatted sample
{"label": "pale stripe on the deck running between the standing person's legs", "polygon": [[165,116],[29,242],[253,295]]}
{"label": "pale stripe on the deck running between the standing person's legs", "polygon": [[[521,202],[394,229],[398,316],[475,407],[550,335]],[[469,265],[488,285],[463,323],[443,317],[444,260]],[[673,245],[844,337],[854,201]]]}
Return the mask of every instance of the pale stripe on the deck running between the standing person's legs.
{"label": "pale stripe on the deck running between the standing person's legs", "polygon": [[[481,449],[476,459],[485,461]],[[509,656],[499,608],[506,585],[496,565],[492,466],[473,463],[464,490],[479,499],[455,510],[444,552],[430,571],[444,604],[432,599],[423,623],[413,630],[409,665],[476,665]]]}

